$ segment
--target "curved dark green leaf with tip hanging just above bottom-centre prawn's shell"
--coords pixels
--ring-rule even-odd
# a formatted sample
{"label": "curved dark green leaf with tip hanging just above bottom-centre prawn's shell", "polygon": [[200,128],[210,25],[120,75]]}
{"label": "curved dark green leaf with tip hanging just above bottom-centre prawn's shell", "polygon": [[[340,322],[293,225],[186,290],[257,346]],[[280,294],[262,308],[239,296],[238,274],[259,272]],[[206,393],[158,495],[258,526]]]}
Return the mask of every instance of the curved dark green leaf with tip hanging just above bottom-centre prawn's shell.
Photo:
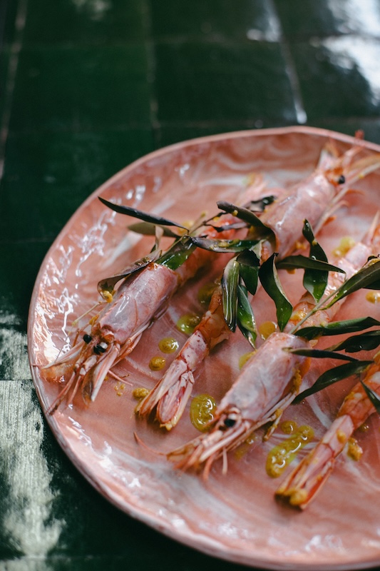
{"label": "curved dark green leaf with tip hanging just above bottom-centre prawn's shell", "polygon": [[287,299],[279,281],[276,266],[274,265],[276,256],[277,254],[274,253],[267,261],[262,263],[259,269],[259,278],[262,287],[269,297],[272,298],[274,305],[276,305],[277,323],[279,330],[282,331],[289,321],[290,315],[292,315],[292,304]]}

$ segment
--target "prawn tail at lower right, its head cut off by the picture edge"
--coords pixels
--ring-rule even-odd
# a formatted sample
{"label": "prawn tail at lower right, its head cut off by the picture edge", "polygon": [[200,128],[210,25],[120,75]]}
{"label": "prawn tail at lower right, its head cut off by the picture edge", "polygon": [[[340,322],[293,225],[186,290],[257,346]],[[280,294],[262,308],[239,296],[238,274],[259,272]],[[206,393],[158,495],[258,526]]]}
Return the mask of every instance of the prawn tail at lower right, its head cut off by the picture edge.
{"label": "prawn tail at lower right, its head cut off by the picture edge", "polygon": [[[375,355],[374,365],[369,365],[366,370],[363,382],[380,396],[380,353]],[[344,399],[337,418],[322,440],[287,476],[276,495],[286,499],[290,505],[301,509],[307,507],[332,473],[337,456],[354,431],[374,412],[374,405],[364,386],[357,383]]]}

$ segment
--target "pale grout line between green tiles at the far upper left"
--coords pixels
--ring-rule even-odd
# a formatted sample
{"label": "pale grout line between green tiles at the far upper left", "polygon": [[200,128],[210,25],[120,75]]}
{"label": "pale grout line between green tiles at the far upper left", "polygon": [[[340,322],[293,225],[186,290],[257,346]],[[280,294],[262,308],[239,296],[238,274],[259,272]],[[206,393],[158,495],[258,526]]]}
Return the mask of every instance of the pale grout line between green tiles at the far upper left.
{"label": "pale grout line between green tiles at the far upper left", "polygon": [[26,23],[26,10],[28,0],[20,0],[19,9],[16,13],[14,41],[11,44],[9,66],[6,74],[6,87],[4,89],[4,111],[1,118],[0,128],[0,180],[4,173],[4,155],[6,140],[9,133],[9,121],[11,119],[11,107],[14,96],[14,86],[16,84],[16,73],[19,66],[19,54],[22,46],[22,38]]}

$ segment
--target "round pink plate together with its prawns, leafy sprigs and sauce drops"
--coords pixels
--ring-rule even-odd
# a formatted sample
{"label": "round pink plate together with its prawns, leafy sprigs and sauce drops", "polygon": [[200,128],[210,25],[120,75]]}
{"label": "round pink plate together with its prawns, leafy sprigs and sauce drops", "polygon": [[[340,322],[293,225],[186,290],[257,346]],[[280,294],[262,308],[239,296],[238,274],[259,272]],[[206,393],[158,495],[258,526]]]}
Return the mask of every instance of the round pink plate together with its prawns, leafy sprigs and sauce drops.
{"label": "round pink plate together with its prawns, leafy sprigs and sauce drops", "polygon": [[380,563],[380,147],[193,139],[98,188],[36,279],[46,420],[110,502],[215,557]]}

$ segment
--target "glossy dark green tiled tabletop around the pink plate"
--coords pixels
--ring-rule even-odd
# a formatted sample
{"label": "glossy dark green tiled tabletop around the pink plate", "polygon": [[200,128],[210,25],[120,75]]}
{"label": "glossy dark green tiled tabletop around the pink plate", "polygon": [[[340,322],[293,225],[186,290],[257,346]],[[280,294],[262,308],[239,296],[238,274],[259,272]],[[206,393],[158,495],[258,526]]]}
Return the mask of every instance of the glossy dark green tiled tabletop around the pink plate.
{"label": "glossy dark green tiled tabletop around the pink plate", "polygon": [[31,291],[76,208],[155,148],[294,124],[380,143],[380,3],[3,0],[0,46],[0,568],[237,570],[73,468],[31,381]]}

